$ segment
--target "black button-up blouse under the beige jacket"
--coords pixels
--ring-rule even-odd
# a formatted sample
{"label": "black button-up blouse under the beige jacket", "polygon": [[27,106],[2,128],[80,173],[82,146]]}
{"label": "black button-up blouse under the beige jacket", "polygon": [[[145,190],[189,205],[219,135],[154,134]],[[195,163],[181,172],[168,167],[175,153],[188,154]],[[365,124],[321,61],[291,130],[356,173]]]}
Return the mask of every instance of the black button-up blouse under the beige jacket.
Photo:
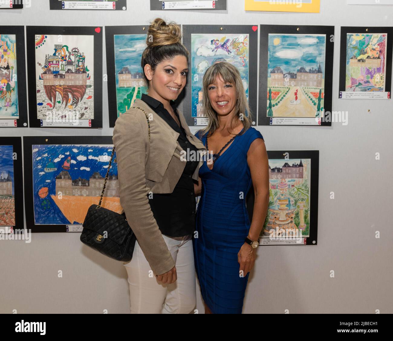
{"label": "black button-up blouse under the beige jacket", "polygon": [[[180,127],[178,126],[162,102],[146,94],[142,94],[141,100],[180,134],[177,141],[183,150],[187,152],[188,148],[190,153],[187,153],[188,155],[193,155],[192,153],[196,155],[198,150],[187,140],[184,128],[181,124]],[[180,122],[176,103],[171,101],[171,107]],[[194,233],[196,201],[192,176],[197,166],[198,161],[187,160],[182,176],[173,192],[153,193],[152,198],[149,198],[151,210],[162,234],[170,237],[183,237]]]}

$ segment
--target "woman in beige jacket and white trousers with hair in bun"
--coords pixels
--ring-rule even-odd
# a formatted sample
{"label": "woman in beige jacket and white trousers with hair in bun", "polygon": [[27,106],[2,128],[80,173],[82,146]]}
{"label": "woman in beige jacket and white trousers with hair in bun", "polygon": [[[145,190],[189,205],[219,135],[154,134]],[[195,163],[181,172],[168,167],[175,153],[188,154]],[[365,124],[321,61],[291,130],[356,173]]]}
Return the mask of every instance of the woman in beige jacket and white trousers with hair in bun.
{"label": "woman in beige jacket and white trousers with hair in bun", "polygon": [[131,313],[188,314],[196,301],[191,239],[203,160],[188,161],[184,151],[206,148],[174,102],[188,73],[180,27],[156,18],[146,43],[141,66],[149,94],[120,115],[113,131],[120,204],[137,239],[132,260],[123,264]]}

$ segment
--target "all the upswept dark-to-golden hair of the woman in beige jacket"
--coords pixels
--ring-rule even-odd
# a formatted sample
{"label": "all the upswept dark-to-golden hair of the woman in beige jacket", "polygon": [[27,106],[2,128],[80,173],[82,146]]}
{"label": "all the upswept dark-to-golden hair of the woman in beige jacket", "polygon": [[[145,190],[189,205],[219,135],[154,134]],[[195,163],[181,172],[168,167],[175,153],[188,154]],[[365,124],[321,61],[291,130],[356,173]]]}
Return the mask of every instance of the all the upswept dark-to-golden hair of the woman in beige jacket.
{"label": "all the upswept dark-to-golden hair of the woman in beige jacket", "polygon": [[144,71],[146,64],[150,64],[154,71],[157,64],[160,64],[165,59],[172,59],[177,55],[187,58],[188,63],[189,53],[182,44],[182,31],[180,26],[174,22],[166,24],[161,18],[154,19],[147,31],[146,44],[147,47],[143,51],[141,58],[141,67],[147,84],[149,84],[149,80],[146,78]]}

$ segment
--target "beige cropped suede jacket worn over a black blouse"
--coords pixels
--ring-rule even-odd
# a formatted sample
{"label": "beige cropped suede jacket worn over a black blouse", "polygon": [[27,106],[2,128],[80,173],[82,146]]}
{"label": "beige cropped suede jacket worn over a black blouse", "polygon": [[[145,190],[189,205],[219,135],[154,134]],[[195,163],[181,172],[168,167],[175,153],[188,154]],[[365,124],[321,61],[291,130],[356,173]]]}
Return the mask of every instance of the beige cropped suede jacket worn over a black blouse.
{"label": "beige cropped suede jacket worn over a black blouse", "polygon": [[[161,275],[175,263],[154,219],[147,193],[152,192],[153,196],[154,193],[172,193],[186,160],[181,159],[179,133],[143,100],[136,99],[133,106],[143,108],[149,115],[150,141],[143,111],[131,108],[118,117],[112,140],[116,147],[120,204],[154,274]],[[188,141],[206,153],[204,144],[191,134],[180,110],[178,114]],[[201,157],[193,179],[198,180],[202,164]]]}

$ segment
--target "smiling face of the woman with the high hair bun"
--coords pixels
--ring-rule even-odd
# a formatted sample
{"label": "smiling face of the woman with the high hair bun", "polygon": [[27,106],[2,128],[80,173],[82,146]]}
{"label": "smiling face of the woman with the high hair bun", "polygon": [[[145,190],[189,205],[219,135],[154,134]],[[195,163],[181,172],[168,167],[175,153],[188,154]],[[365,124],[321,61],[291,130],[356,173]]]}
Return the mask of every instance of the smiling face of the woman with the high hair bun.
{"label": "smiling face of the woman with the high hair bun", "polygon": [[177,55],[173,59],[165,59],[152,71],[145,65],[145,74],[149,82],[149,96],[163,102],[176,100],[182,92],[188,72],[187,58]]}

